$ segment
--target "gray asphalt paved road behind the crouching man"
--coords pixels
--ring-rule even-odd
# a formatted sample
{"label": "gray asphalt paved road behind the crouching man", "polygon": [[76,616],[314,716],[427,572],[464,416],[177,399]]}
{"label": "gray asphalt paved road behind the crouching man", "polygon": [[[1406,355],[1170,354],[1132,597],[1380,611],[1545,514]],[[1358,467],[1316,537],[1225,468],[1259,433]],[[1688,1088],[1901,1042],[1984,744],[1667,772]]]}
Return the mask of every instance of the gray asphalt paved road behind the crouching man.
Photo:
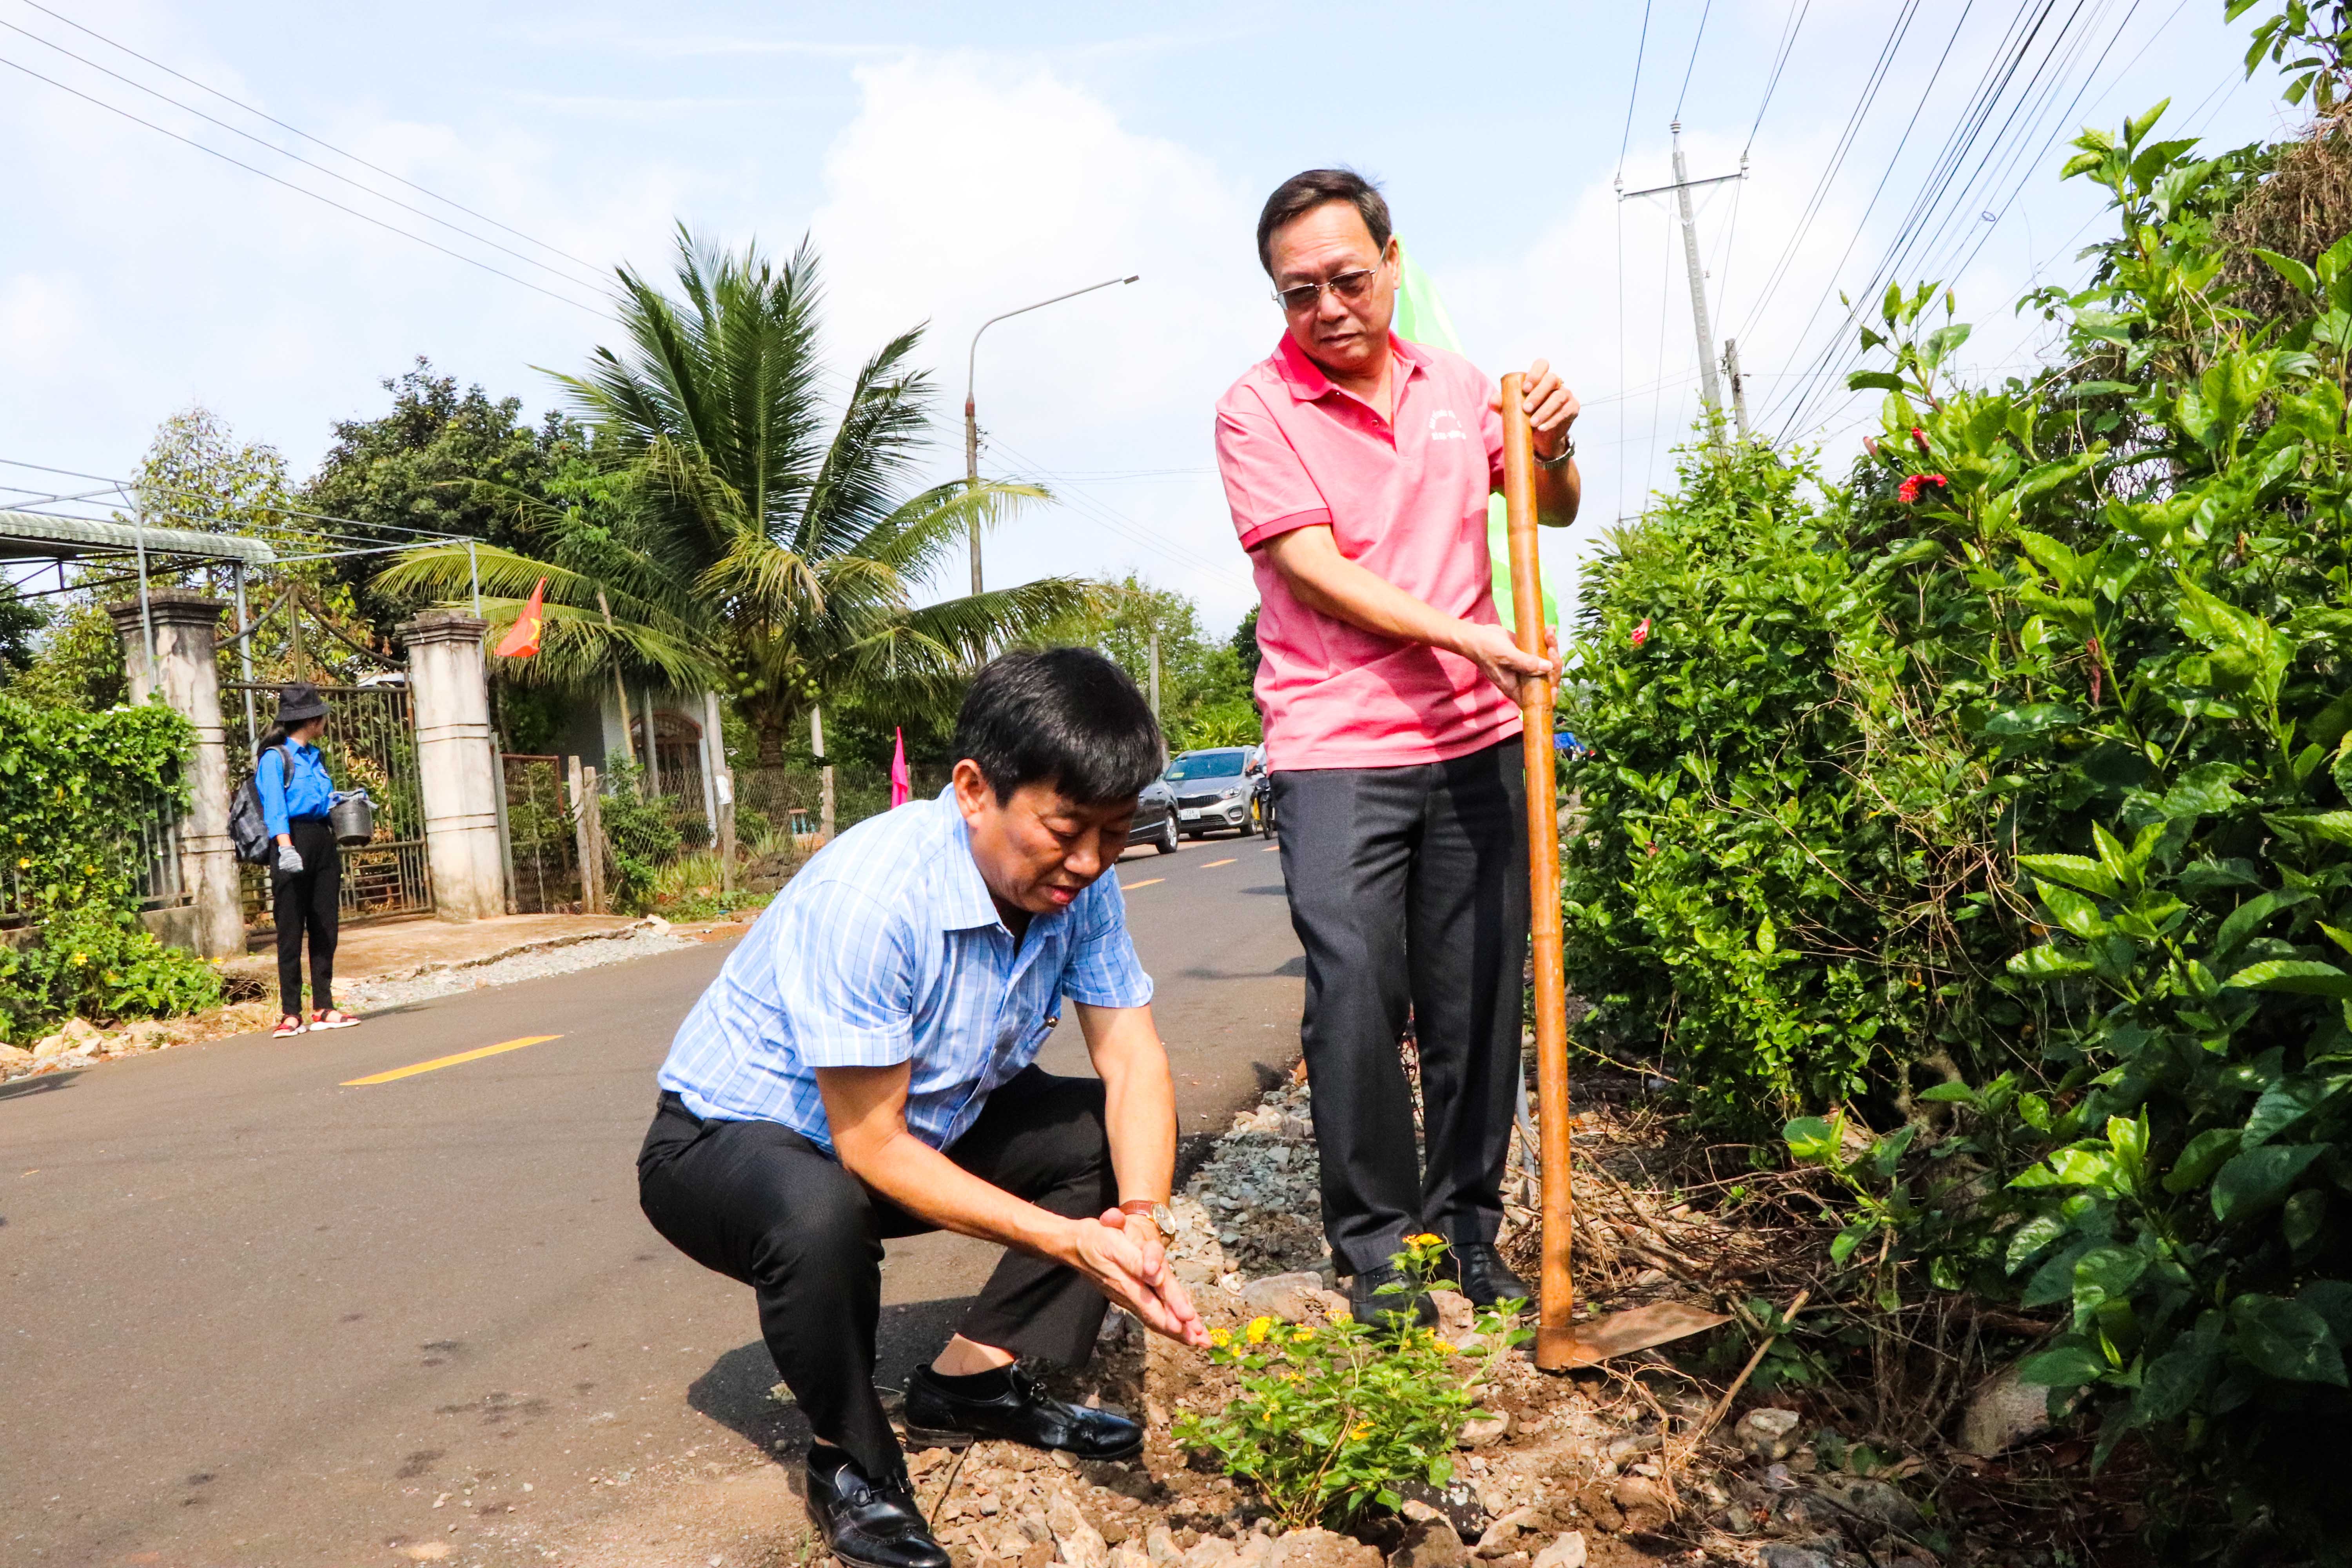
{"label": "gray asphalt paved road behind the crouching man", "polygon": [[[1296,1056],[1277,858],[1221,839],[1120,877],[1185,1131],[1221,1128]],[[0,1561],[572,1561],[557,1547],[649,1483],[790,1441],[748,1291],[635,1206],[654,1065],[722,957],[14,1084]],[[1082,1070],[1075,1025],[1044,1060]],[[891,1246],[887,1380],[988,1262],[957,1237]]]}

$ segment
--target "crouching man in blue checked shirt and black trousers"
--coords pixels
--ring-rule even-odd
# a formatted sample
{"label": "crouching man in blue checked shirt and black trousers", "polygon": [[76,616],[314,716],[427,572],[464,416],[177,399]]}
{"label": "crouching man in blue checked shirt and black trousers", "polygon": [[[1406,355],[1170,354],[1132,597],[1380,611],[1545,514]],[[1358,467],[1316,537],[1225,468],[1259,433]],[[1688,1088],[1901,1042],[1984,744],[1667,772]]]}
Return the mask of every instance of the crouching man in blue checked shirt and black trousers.
{"label": "crouching man in blue checked shirt and black trousers", "polygon": [[[1103,877],[1160,773],[1160,724],[1101,654],[1007,654],[974,682],[955,755],[938,799],[828,844],[729,954],[677,1030],[637,1157],[654,1227],[757,1293],[816,1432],[809,1512],[854,1568],[948,1563],[873,1385],[884,1237],[1007,1248],[908,1380],[922,1446],[1127,1458],[1136,1422],[1047,1399],[1014,1363],[1082,1363],[1105,1298],[1207,1342],[1152,1220],[1176,1088]],[[1033,1065],[1063,997],[1096,1079]]]}

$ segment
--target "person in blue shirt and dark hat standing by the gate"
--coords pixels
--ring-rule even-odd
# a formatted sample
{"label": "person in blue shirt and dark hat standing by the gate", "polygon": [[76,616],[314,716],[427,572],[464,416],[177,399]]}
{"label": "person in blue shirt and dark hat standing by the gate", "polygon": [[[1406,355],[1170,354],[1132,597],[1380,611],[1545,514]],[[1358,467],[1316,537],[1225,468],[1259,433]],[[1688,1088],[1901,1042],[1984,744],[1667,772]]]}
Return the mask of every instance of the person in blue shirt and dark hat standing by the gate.
{"label": "person in blue shirt and dark hat standing by the gate", "polygon": [[[278,914],[278,1027],[285,1039],[308,1030],[348,1030],[360,1023],[334,1006],[334,933],[341,919],[343,851],[334,844],[327,809],[334,780],[318,755],[327,703],[318,686],[292,682],[278,693],[278,722],[261,736],[254,790],[261,820],[278,842],[270,896]],[[310,936],[310,1020],[301,1016],[301,940]]]}

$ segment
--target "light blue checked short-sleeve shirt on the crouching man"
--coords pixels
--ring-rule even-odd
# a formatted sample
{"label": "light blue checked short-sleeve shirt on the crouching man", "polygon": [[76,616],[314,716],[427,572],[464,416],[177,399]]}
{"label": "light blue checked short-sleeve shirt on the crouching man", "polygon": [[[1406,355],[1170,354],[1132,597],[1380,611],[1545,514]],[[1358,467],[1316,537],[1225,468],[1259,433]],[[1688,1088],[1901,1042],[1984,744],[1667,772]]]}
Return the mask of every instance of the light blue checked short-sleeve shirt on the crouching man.
{"label": "light blue checked short-sleeve shirt on the crouching man", "polygon": [[779,1121],[833,1150],[816,1067],[913,1065],[906,1124],[946,1150],[1028,1067],[1061,999],[1143,1006],[1120,879],[1033,914],[1014,943],[953,792],[868,818],[816,853],[677,1025],[659,1081],[720,1121]]}

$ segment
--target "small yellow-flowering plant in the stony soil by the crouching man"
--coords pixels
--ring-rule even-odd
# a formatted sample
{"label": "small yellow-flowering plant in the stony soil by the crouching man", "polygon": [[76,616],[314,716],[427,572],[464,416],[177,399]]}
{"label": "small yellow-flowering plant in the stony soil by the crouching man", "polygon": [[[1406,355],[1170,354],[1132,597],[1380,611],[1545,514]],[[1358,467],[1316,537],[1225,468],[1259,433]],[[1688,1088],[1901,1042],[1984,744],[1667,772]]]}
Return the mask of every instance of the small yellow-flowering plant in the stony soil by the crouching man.
{"label": "small yellow-flowering plant in the stony soil by the crouching man", "polygon": [[1399,1486],[1451,1481],[1454,1443],[1484,1415],[1475,1394],[1484,1363],[1526,1340],[1524,1302],[1479,1312],[1468,1352],[1418,1324],[1411,1298],[1454,1288],[1439,1276],[1439,1237],[1406,1237],[1395,1265],[1406,1284],[1388,1286],[1397,1309],[1378,1326],[1341,1312],[1319,1328],[1258,1316],[1209,1335],[1209,1359],[1235,1371],[1240,1392],[1211,1415],[1178,1415],[1176,1441],[1256,1486],[1287,1528],[1341,1528],[1369,1507],[1399,1507]]}

